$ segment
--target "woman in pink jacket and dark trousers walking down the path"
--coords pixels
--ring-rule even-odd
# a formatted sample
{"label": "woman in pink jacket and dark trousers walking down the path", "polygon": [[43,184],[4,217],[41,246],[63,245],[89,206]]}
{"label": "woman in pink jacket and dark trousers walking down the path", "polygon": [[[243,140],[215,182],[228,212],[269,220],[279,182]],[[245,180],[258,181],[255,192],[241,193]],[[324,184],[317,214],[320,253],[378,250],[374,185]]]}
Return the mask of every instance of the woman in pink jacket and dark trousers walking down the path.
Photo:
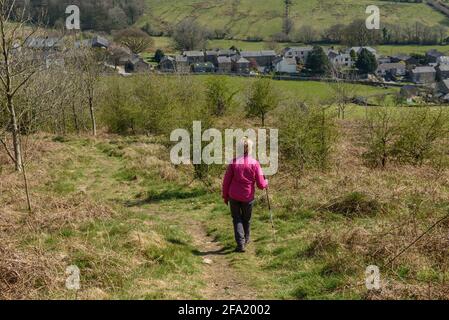
{"label": "woman in pink jacket and dark trousers walking down the path", "polygon": [[268,187],[259,162],[251,157],[252,147],[251,140],[242,139],[237,149],[243,150],[243,155],[232,161],[223,179],[222,196],[231,208],[237,252],[245,252],[250,241],[255,186],[261,190]]}

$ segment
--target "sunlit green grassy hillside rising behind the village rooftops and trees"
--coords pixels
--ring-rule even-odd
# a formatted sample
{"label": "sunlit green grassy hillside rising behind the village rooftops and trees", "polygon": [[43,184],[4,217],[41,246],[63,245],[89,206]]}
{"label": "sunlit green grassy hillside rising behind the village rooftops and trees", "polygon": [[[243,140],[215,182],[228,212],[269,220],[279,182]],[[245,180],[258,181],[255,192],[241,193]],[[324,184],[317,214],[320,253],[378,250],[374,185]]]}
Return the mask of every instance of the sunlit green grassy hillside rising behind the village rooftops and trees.
{"label": "sunlit green grassy hillside rising behind the village rooftops and trees", "polygon": [[[146,0],[147,12],[139,24],[149,22],[165,29],[183,18],[193,17],[210,29],[226,29],[236,39],[269,36],[280,32],[284,5],[282,0]],[[368,5],[381,10],[381,22],[434,26],[449,25],[449,18],[425,3],[397,3],[372,0],[294,0],[290,16],[295,28],[312,25],[325,29],[335,24],[348,24],[366,17]]]}

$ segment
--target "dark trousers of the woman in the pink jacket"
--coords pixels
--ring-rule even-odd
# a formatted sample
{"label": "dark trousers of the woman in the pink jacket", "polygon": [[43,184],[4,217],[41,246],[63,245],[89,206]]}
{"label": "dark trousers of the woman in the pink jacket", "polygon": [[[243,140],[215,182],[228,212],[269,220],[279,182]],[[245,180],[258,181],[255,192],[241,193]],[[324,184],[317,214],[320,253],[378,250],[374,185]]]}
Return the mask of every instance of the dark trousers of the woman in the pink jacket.
{"label": "dark trousers of the woman in the pink jacket", "polygon": [[234,236],[237,245],[243,248],[249,242],[251,233],[251,215],[254,201],[240,202],[230,200],[232,220],[234,222]]}

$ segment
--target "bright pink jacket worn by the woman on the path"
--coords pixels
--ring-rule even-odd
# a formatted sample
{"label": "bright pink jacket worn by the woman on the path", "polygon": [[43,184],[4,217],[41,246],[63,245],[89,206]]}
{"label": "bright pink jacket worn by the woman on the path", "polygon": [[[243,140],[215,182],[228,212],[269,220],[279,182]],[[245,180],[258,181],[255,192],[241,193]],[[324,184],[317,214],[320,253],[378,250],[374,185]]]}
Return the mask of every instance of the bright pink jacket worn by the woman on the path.
{"label": "bright pink jacket worn by the woman on the path", "polygon": [[228,166],[223,179],[223,199],[251,202],[254,200],[255,184],[259,189],[268,187],[259,162],[251,156],[236,158]]}

